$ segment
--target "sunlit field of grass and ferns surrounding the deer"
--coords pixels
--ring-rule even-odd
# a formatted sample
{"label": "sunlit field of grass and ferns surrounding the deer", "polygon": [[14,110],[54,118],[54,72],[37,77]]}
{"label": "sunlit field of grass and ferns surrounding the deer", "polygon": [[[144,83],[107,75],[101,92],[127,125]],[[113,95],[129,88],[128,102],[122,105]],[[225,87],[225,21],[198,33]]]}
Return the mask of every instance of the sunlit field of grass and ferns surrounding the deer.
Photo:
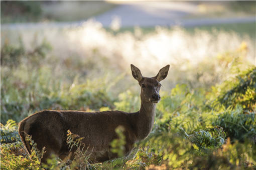
{"label": "sunlit field of grass and ferns surrounding the deer", "polygon": [[255,168],[255,39],[245,25],[238,32],[113,32],[92,21],[78,28],[2,29],[1,169],[46,167],[35,143],[29,156],[17,132],[17,123],[36,111],[137,111],[140,87],[131,63],[145,76],[171,64],[153,131],[137,143],[136,156],[91,164],[81,150],[69,165],[49,159],[48,169]]}

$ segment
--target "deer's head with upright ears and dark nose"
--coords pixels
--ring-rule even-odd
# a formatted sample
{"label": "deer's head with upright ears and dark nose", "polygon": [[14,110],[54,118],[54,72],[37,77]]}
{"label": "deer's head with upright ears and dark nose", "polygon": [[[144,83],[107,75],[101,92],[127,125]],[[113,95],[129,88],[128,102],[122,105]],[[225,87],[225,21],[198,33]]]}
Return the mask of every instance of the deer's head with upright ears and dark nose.
{"label": "deer's head with upright ears and dark nose", "polygon": [[161,68],[158,74],[154,77],[144,77],[141,73],[141,70],[135,65],[131,64],[132,74],[135,79],[139,81],[141,86],[141,99],[145,102],[154,102],[157,103],[161,100],[159,95],[161,83],[163,79],[168,74],[170,65],[166,65]]}

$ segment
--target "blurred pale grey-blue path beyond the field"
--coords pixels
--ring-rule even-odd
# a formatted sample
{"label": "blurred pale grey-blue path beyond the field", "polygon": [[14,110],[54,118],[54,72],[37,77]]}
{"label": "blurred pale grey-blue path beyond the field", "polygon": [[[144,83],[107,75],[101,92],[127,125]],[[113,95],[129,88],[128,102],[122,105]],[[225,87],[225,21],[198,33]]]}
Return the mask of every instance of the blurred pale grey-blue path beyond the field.
{"label": "blurred pale grey-blue path beyond the field", "polygon": [[152,27],[155,25],[184,27],[209,25],[217,23],[252,22],[251,17],[228,17],[228,18],[196,18],[185,19],[184,17],[196,14],[198,5],[191,2],[166,1],[166,2],[131,2],[120,4],[116,8],[96,16],[96,20],[104,27],[111,25],[114,18],[118,18],[123,27]]}

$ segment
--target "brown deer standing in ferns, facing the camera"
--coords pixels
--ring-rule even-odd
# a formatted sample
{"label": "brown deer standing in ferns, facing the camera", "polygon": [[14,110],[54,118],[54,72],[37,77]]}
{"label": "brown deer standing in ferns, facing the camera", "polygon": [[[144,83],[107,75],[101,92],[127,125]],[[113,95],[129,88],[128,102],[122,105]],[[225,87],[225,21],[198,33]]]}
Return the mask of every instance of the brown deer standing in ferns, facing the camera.
{"label": "brown deer standing in ferns, facing the camera", "polygon": [[156,103],[161,99],[160,81],[167,76],[169,67],[166,65],[154,77],[144,77],[140,69],[131,64],[132,74],[141,86],[141,109],[137,112],[42,110],[26,117],[19,124],[19,134],[28,153],[31,153],[31,145],[25,139],[26,133],[31,135],[39,150],[45,147],[42,162],[45,163],[51,154],[61,159],[71,155],[72,159],[75,150],[69,150],[66,143],[69,129],[84,137],[82,142],[90,152],[90,162],[109,160],[117,157],[111,152],[109,143],[117,138],[115,128],[121,125],[126,140],[125,155],[129,155],[134,143],[145,139],[152,130]]}

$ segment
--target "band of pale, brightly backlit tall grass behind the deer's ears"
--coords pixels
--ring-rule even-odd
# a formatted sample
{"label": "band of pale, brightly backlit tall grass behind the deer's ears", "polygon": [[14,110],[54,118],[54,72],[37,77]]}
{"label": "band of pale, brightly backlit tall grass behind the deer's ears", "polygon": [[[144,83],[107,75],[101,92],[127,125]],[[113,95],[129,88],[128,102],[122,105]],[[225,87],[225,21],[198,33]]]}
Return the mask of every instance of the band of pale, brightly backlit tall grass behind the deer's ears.
{"label": "band of pale, brightly backlit tall grass behind the deer's ears", "polygon": [[[91,20],[79,27],[54,28],[45,25],[42,28],[3,28],[1,31],[2,46],[6,41],[19,45],[19,37],[28,51],[43,41],[49,42],[53,49],[47,53],[44,62],[48,65],[54,62],[58,72],[75,69],[93,77],[111,70],[116,73],[130,71],[130,64],[134,63],[146,76],[152,76],[161,66],[169,63],[172,67],[172,76],[168,77],[169,89],[194,77],[207,78],[209,83],[221,81],[223,78],[213,78],[212,74],[220,73],[221,68],[228,65],[215,63],[213,58],[230,52],[237,55],[236,51],[242,50],[239,55],[244,58],[243,61],[255,63],[254,39],[221,30],[189,33],[180,27],[156,27],[151,32],[143,33],[141,28],[136,27],[134,33],[111,32]],[[196,69],[196,73],[192,72]]]}

